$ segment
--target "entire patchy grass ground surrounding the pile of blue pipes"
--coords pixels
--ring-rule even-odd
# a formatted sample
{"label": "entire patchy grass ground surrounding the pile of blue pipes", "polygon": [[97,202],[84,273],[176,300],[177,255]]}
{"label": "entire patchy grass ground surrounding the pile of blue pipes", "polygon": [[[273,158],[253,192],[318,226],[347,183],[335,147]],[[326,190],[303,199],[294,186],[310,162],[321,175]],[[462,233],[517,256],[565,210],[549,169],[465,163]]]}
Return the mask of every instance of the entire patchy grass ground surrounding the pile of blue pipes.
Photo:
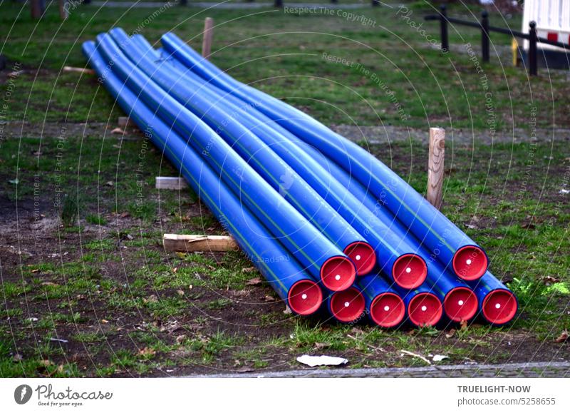
{"label": "entire patchy grass ground surrounding the pile of blue pipes", "polygon": [[[238,253],[165,253],[162,233],[223,228],[190,190],[154,188],[155,176],[177,172],[138,131],[123,140],[110,133],[122,113],[92,76],[61,73],[85,66],[82,41],[113,26],[138,30],[154,10],[81,6],[61,24],[53,9],[36,26],[19,7],[2,5],[0,14],[9,28],[0,38],[9,58],[0,72],[0,94],[9,96],[0,130],[0,377],[263,372],[323,353],[350,367],[423,364],[400,350],[447,355],[449,364],[568,360],[569,343],[556,340],[570,330],[567,137],[447,148],[443,212],[486,248],[492,272],[519,297],[512,324],[380,330],[292,317]],[[418,24],[429,12],[408,7]],[[462,51],[476,47],[477,31],[451,30],[457,49],[442,56],[397,8],[350,11],[375,24],[172,7],[140,32],[158,41],[172,30],[199,49],[202,21],[212,16],[214,63],[328,125],[492,136],[532,134],[535,118],[538,128],[568,128],[567,73],[527,78],[504,54],[507,36],[492,36],[502,64],[492,56],[477,73]],[[478,11],[449,11],[470,13]],[[520,16],[491,21],[520,29]],[[437,25],[424,26],[437,39]],[[14,66],[22,72],[9,77]],[[419,136],[368,148],[424,192]]]}

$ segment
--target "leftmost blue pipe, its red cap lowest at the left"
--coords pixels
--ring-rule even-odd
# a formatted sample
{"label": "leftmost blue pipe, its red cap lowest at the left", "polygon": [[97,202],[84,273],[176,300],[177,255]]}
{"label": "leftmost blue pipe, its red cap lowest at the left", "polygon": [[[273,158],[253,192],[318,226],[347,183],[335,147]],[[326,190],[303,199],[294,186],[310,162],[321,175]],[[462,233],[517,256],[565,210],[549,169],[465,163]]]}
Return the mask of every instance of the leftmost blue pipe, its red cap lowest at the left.
{"label": "leftmost blue pipe, its red cap lowest at the left", "polygon": [[202,158],[187,146],[184,139],[171,131],[113,72],[105,73],[105,62],[96,51],[93,41],[83,44],[83,53],[90,66],[104,79],[103,84],[110,95],[137,123],[140,130],[145,132],[145,137],[150,138],[180,170],[192,189],[199,194],[200,199],[291,310],[300,315],[316,312],[322,302],[321,288],[306,275],[299,262],[239,203]]}

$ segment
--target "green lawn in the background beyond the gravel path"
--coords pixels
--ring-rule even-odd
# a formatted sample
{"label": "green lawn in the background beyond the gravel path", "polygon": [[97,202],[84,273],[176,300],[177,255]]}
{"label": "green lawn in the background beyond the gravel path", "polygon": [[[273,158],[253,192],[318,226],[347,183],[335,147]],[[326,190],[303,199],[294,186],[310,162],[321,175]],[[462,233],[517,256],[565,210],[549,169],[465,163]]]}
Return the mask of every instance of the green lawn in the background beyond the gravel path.
{"label": "green lawn in the background beyond the gravel path", "polygon": [[[433,12],[432,7],[427,2],[416,4],[410,6],[413,14],[405,19],[398,8],[364,4],[362,9],[351,10],[356,16],[371,19],[373,25],[336,14],[294,14],[276,9],[206,12],[172,7],[141,29],[141,21],[155,10],[126,12],[81,6],[81,13],[72,13],[63,24],[58,21],[56,8],[51,8],[36,27],[29,14],[23,13],[11,31],[1,36],[9,45],[4,50],[11,61],[31,68],[16,79],[19,96],[25,98],[11,101],[7,116],[12,120],[57,122],[107,122],[116,118],[118,109],[93,76],[60,73],[65,65],[86,65],[81,55],[83,41],[120,26],[128,33],[140,31],[152,42],[171,30],[199,50],[207,15],[216,24],[214,63],[327,124],[423,128],[430,123],[488,129],[487,96],[492,96],[499,130],[529,128],[532,106],[538,106],[538,126],[548,127],[553,116],[559,123],[568,119],[565,111],[559,111],[570,96],[564,73],[541,71],[538,78],[527,78],[524,69],[510,63],[509,36],[492,34],[492,51],[506,50],[506,54],[499,61],[492,53],[492,63],[482,66],[489,80],[489,90],[485,90],[470,56],[459,51],[442,56],[410,26],[423,24],[430,39],[438,39],[437,24],[423,21],[425,14]],[[3,7],[0,23],[9,27],[20,6]],[[475,20],[479,8],[454,5],[448,14]],[[493,25],[508,24],[520,30],[521,16],[507,21],[492,13],[490,19]],[[467,43],[477,46],[480,34],[475,29],[451,27],[450,43],[460,49]],[[360,66],[328,61],[323,53]],[[36,76],[38,67],[43,70],[41,76]],[[558,105],[541,105],[543,101],[556,101]]]}

